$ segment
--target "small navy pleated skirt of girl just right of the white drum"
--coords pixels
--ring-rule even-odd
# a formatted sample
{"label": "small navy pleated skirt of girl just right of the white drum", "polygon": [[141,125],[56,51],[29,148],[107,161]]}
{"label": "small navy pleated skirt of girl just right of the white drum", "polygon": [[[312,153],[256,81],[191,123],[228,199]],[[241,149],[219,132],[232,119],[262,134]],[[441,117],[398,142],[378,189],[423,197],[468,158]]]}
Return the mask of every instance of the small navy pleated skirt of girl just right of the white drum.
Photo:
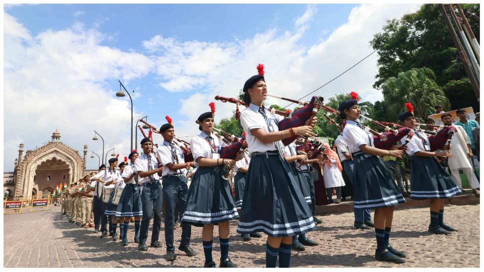
{"label": "small navy pleated skirt of girl just right of the white drum", "polygon": [[116,208],[116,217],[143,216],[141,206],[141,190],[138,184],[126,184],[123,193],[119,198],[119,204]]}

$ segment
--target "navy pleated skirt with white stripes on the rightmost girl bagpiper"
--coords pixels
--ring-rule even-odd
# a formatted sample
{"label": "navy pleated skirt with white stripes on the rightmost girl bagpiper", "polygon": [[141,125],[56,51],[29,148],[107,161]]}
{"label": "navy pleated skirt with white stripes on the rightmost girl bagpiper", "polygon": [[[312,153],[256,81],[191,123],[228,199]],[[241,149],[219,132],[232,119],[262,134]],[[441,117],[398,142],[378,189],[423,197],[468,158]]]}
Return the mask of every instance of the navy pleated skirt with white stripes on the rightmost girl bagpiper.
{"label": "navy pleated skirt with white stripes on the rightmost girl bagpiper", "polygon": [[462,191],[433,157],[412,156],[410,198],[450,198]]}

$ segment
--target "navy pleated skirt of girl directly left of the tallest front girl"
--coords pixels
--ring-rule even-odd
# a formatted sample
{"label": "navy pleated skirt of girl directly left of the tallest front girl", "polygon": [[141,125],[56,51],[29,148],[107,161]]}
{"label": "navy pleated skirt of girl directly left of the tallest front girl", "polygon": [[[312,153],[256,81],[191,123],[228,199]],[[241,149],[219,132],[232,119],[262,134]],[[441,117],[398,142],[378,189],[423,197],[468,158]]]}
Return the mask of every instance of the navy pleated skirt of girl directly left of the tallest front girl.
{"label": "navy pleated skirt of girl directly left of the tallest front girl", "polygon": [[199,167],[187,195],[182,222],[197,227],[239,218],[230,184],[222,176],[222,167]]}

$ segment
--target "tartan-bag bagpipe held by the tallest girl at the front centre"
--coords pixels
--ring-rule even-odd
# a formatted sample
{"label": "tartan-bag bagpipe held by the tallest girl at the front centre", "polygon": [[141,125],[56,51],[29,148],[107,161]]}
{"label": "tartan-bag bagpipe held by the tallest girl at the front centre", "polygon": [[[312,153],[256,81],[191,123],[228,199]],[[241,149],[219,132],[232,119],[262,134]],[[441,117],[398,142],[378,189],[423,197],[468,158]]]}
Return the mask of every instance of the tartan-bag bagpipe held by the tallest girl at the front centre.
{"label": "tartan-bag bagpipe held by the tallest girl at the front centre", "polygon": [[[270,95],[267,95],[267,96],[270,96]],[[279,97],[275,97],[275,98],[279,98]],[[246,103],[244,103],[243,101],[240,101],[238,99],[235,99],[235,98],[227,98],[227,97],[216,96],[215,99],[220,100],[222,102],[230,102],[230,103],[234,103],[234,104],[241,104],[245,107],[248,107],[248,105]],[[289,100],[287,98],[281,98],[281,99],[287,100],[287,101],[293,101],[293,102],[295,101],[295,100]],[[269,109],[269,111],[272,114],[278,114],[278,115],[287,117],[287,118],[284,118],[283,120],[281,120],[277,123],[279,131],[283,131],[283,130],[287,130],[287,129],[291,129],[291,128],[304,126],[304,123],[309,118],[316,115],[317,110],[320,107],[322,107],[322,100],[323,100],[322,97],[313,96],[311,101],[307,102],[307,104],[305,104],[304,107],[301,107],[301,108],[293,111],[292,113],[290,113],[289,110],[283,112],[283,111],[279,111],[279,110]],[[316,101],[318,101],[318,102],[316,102]],[[315,107],[315,104],[317,105],[316,107]],[[316,109],[314,109],[314,108],[316,108]],[[297,137],[297,135],[291,136],[289,138],[285,138],[285,139],[282,140],[282,143],[284,143],[284,145],[289,145],[291,142],[293,142],[296,139],[296,137]]]}

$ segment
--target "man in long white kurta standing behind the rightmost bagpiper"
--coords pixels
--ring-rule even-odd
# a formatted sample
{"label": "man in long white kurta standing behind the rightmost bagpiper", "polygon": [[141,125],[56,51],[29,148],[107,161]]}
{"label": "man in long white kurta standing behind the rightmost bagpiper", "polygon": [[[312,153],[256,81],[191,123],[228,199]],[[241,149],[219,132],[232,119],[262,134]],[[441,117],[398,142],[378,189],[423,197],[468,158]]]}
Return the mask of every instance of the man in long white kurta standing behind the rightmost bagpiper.
{"label": "man in long white kurta standing behind the rightmost bagpiper", "polygon": [[[452,118],[450,115],[443,115],[442,122],[444,125],[452,125]],[[473,166],[471,164],[470,153],[471,150],[471,139],[467,136],[466,131],[461,126],[455,126],[457,133],[454,134],[451,140],[451,153],[454,155],[453,158],[449,157],[449,168],[451,169],[451,176],[454,182],[456,182],[459,189],[462,189],[461,175],[459,174],[459,169],[461,169],[469,179],[469,184],[473,189],[479,188],[479,180],[473,171]]]}

